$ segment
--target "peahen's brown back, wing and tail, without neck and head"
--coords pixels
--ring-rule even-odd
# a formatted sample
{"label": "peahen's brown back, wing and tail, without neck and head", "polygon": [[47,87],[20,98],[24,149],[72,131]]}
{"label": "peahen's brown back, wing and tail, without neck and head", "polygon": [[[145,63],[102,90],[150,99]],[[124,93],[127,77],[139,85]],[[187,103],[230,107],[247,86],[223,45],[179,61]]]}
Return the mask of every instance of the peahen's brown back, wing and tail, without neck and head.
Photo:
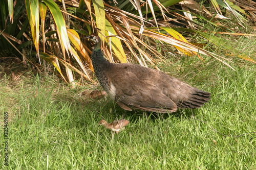
{"label": "peahen's brown back, wing and tail, without neck and head", "polygon": [[175,112],[177,107],[199,108],[210,100],[208,92],[137,64],[116,64],[110,74],[115,101],[124,110]]}

